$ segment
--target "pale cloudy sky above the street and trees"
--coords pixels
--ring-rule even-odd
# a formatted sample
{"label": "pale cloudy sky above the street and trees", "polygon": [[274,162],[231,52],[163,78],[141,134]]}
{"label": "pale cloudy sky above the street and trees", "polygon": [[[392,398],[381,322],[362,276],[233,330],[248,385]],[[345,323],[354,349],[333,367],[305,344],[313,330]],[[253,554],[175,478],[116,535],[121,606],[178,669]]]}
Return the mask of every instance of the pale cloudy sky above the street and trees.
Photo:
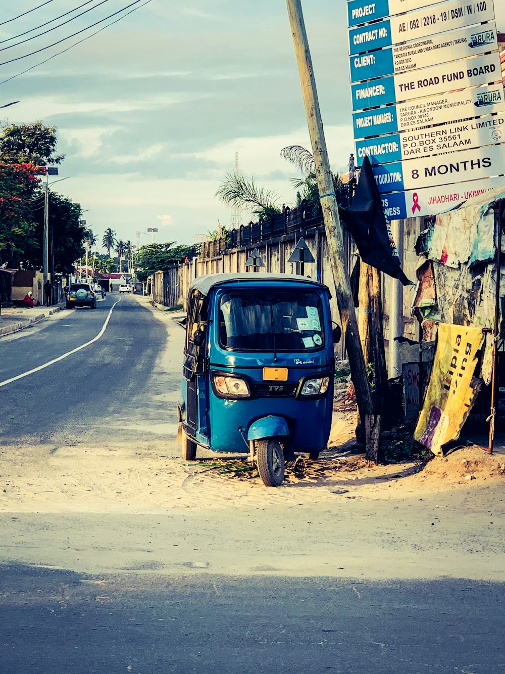
{"label": "pale cloudy sky above the street and trees", "polygon": [[[133,1],[1,0],[0,104],[20,102],[0,121],[57,127],[59,178],[69,179],[53,189],[81,204],[100,240],[111,227],[132,243],[140,231],[141,245],[147,228],[158,228],[158,243],[191,244],[230,226],[215,192],[236,152],[246,177],[273,189],[279,206],[294,204],[298,172],[280,152],[310,140],[285,1],[140,0],[88,28]],[[329,159],[345,171],[354,152],[346,2],[302,5]],[[505,31],[505,1],[495,7]]]}

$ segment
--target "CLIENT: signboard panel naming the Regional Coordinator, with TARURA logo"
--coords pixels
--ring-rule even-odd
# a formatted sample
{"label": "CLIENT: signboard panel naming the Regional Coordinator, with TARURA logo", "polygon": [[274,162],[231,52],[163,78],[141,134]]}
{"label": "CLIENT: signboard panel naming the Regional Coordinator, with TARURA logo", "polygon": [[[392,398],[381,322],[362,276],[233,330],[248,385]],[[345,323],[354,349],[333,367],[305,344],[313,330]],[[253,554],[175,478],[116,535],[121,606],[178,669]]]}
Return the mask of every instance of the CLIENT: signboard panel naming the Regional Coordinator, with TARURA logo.
{"label": "CLIENT: signboard panel naming the Regional Coordinator, with TARURA logo", "polygon": [[395,47],[358,54],[349,59],[351,82],[361,82],[386,75],[438,65],[441,61],[458,61],[498,50],[496,24],[471,26],[442,33],[422,40],[414,40]]}

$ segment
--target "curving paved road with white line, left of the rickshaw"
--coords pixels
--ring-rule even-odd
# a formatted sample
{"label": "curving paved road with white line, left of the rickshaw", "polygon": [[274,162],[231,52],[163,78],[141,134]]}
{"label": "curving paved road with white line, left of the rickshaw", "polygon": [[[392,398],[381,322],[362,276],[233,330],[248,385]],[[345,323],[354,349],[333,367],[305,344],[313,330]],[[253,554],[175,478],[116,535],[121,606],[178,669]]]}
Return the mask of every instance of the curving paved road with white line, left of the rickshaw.
{"label": "curving paved road with white line, left of the rickshaw", "polygon": [[[96,338],[111,309],[108,326],[94,344],[1,386]],[[65,310],[42,326],[2,338],[0,441],[63,443],[73,436],[86,441],[112,428],[116,439],[131,439],[131,428],[122,421],[134,425],[141,417],[145,423],[149,411],[159,419],[160,409],[146,409],[142,397],[165,342],[166,330],[151,312],[119,293],[108,293],[94,311]],[[160,394],[175,390],[178,383],[160,382]],[[167,407],[161,411],[166,415]],[[174,406],[170,412],[175,422]]]}

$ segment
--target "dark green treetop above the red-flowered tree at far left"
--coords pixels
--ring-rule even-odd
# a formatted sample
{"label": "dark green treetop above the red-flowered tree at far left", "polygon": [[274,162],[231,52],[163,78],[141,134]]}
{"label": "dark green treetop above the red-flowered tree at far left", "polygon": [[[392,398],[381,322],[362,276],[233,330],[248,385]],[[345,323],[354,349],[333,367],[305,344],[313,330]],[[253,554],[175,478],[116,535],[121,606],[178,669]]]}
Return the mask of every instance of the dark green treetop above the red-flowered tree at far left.
{"label": "dark green treetop above the red-flowered tree at far left", "polygon": [[64,154],[55,154],[57,129],[41,121],[7,124],[0,135],[0,160],[6,164],[61,164]]}

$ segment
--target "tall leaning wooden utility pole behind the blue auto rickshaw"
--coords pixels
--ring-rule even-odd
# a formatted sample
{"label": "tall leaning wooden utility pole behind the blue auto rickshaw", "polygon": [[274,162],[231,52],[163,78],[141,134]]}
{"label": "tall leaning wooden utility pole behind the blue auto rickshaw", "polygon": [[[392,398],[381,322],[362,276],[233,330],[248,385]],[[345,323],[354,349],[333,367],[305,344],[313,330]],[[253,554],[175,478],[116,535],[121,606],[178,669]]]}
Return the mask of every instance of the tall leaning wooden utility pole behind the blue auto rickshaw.
{"label": "tall leaning wooden utility pole behind the blue auto rickshaw", "polygon": [[366,446],[370,446],[375,434],[376,417],[370,393],[370,384],[366,376],[365,361],[358,332],[358,321],[351,293],[349,274],[344,266],[344,249],[337,197],[331,178],[328,153],[323,133],[323,122],[317,98],[316,82],[310,59],[307,34],[300,0],[286,0],[290,16],[298,71],[307,115],[308,131],[312,142],[312,153],[316,164],[316,178],[319,188],[326,238],[329,247],[331,271],[335,282],[335,295],[340,311],[345,346],[349,355],[351,377],[356,390],[356,400],[360,417],[364,421]]}

